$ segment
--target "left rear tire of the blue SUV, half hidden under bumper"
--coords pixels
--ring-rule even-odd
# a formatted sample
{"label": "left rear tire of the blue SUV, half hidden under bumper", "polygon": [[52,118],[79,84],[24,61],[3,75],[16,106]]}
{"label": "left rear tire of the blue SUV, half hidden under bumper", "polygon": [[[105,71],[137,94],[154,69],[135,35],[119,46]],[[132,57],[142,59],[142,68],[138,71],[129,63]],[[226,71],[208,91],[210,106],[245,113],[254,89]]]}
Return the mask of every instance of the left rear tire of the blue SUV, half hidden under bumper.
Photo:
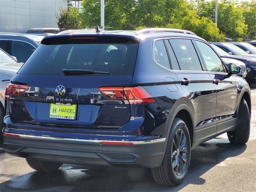
{"label": "left rear tire of the blue SUV, half hidden under bumper", "polygon": [[29,159],[26,158],[28,165],[38,171],[41,172],[52,172],[57,170],[62,166],[62,163],[56,163],[56,162],[46,162],[42,160],[36,160],[36,159]]}

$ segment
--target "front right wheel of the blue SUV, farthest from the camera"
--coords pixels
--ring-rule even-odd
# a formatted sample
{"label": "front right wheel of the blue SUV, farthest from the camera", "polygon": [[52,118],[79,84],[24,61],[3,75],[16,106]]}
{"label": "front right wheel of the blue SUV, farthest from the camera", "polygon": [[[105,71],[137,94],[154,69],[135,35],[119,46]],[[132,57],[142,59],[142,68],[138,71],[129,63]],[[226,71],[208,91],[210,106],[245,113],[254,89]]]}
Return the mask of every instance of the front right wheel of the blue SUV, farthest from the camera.
{"label": "front right wheel of the blue SUV, farthest from the camera", "polygon": [[237,117],[237,125],[234,131],[227,132],[228,140],[232,144],[246,144],[250,136],[250,112],[248,105],[242,99]]}

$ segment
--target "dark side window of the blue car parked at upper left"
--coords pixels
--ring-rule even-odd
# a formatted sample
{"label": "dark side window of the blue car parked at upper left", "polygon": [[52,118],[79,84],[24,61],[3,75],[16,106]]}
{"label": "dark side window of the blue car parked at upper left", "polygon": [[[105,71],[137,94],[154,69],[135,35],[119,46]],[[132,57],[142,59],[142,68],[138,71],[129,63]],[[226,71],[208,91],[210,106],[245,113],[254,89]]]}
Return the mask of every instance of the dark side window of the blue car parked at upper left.
{"label": "dark side window of the blue car parked at upper left", "polygon": [[24,63],[30,55],[34,52],[35,48],[22,41],[11,41],[11,55],[15,56],[18,62]]}

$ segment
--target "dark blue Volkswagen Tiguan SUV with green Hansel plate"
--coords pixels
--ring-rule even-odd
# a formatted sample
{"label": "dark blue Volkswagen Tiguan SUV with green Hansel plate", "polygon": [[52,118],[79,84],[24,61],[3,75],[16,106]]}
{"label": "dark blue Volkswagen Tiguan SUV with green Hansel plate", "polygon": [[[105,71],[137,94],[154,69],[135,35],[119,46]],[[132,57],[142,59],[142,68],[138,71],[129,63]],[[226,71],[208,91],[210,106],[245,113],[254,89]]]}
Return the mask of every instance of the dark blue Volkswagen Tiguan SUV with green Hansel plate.
{"label": "dark blue Volkswagen Tiguan SUV with green Hansel plate", "polygon": [[38,170],[140,166],[178,185],[191,150],[250,134],[250,88],[202,38],[174,29],[46,37],[6,88],[4,150]]}

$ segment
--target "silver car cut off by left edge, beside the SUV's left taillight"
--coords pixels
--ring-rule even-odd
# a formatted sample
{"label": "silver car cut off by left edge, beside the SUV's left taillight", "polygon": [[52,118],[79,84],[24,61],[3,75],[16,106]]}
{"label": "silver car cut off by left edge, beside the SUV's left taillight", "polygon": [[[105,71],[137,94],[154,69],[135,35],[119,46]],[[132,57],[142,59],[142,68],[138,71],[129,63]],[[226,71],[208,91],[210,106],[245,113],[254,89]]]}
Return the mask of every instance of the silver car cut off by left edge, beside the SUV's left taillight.
{"label": "silver car cut off by left edge, beside the SUV's left taillight", "polygon": [[18,63],[4,50],[0,49],[0,148],[2,148],[2,129],[4,120],[4,93],[11,78],[18,72],[23,63]]}

